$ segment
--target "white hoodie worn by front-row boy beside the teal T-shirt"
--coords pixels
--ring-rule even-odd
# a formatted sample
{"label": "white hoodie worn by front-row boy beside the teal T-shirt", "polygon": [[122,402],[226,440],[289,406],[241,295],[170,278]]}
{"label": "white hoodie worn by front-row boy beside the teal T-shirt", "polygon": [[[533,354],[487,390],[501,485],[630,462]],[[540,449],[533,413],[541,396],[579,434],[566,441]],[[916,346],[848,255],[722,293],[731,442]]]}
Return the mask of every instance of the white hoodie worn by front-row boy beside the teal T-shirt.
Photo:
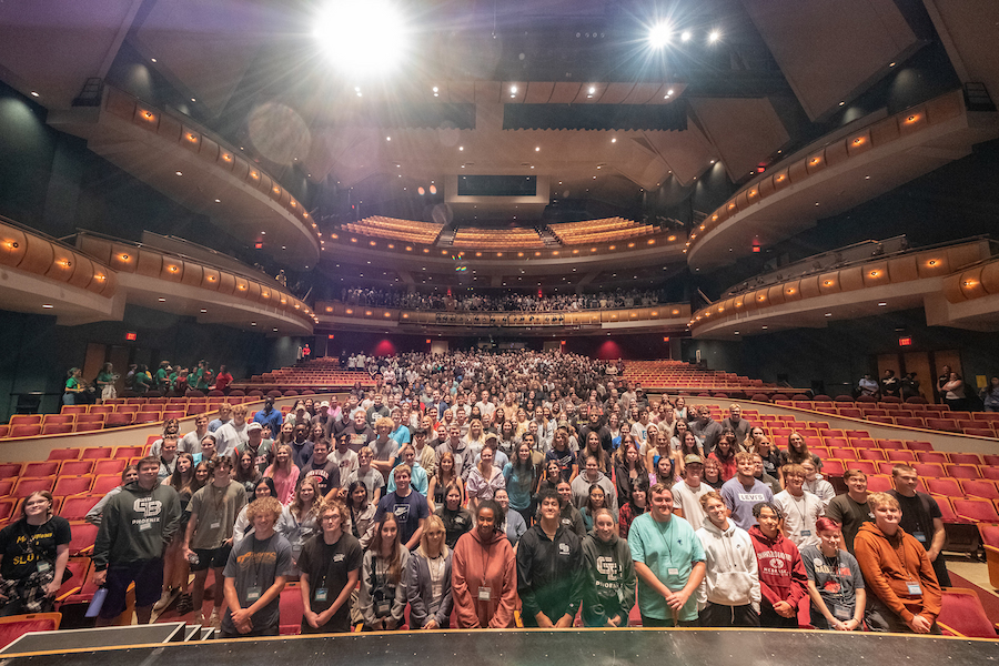
{"label": "white hoodie worn by front-row boy beside the teal T-shirt", "polygon": [[756,553],[746,531],[728,521],[728,527],[720,529],[705,518],[704,526],[696,532],[704,547],[704,581],[697,589],[698,610],[709,603],[723,606],[753,605],[759,613],[760,585],[757,576]]}

